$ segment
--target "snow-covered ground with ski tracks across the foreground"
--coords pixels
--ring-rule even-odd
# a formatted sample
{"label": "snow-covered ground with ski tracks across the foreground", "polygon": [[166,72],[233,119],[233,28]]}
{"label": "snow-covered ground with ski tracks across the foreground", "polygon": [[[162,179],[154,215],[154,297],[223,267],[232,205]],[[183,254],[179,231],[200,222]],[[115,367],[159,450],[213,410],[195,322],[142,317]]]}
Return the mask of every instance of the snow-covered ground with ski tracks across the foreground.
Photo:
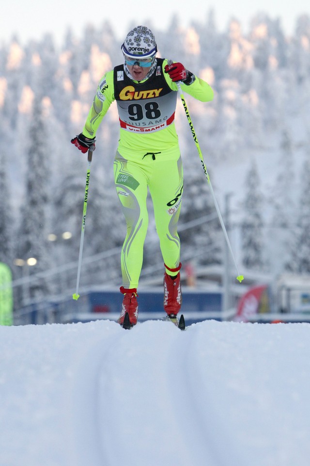
{"label": "snow-covered ground with ski tracks across the foreground", "polygon": [[0,466],[309,466],[309,324],[0,327],[0,355]]}

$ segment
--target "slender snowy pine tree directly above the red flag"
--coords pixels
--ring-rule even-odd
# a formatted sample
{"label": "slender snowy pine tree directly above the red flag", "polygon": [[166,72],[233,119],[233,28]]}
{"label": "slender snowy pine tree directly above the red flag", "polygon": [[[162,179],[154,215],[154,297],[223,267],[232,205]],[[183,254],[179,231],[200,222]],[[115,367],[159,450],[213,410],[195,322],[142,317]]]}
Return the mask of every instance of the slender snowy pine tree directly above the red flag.
{"label": "slender snowy pine tree directly above the red flag", "polygon": [[260,178],[252,161],[246,177],[246,197],[243,202],[244,220],[241,225],[243,264],[250,269],[263,267],[263,219]]}

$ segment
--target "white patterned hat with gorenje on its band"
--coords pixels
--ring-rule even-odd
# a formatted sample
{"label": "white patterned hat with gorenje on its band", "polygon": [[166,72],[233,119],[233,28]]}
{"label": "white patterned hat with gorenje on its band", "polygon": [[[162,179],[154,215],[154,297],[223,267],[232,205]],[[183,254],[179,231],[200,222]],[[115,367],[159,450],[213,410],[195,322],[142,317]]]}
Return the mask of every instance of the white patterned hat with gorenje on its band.
{"label": "white patterned hat with gorenje on its band", "polygon": [[127,57],[153,57],[157,52],[155,36],[146,26],[137,26],[126,35],[121,49]]}

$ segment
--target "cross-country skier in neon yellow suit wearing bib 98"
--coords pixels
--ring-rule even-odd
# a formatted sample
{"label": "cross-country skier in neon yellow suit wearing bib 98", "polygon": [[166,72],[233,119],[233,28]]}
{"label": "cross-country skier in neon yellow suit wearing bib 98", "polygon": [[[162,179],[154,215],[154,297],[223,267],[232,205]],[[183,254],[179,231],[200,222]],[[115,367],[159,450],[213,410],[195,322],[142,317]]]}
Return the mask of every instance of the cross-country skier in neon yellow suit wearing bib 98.
{"label": "cross-country skier in neon yellow suit wearing bib 98", "polygon": [[194,98],[207,102],[213,90],[181,63],[156,58],[154,34],[137,26],[121,47],[124,64],[108,71],[100,80],[82,133],[71,140],[86,153],[113,100],[120,118],[120,139],[114,162],[114,178],[127,224],[121,252],[124,294],[118,322],[138,319],[137,288],[148,226],[146,207],[149,189],[156,230],[164,261],[164,309],[177,315],[182,296],[180,284],[180,239],[177,233],[183,193],[183,168],[174,125],[177,82]]}

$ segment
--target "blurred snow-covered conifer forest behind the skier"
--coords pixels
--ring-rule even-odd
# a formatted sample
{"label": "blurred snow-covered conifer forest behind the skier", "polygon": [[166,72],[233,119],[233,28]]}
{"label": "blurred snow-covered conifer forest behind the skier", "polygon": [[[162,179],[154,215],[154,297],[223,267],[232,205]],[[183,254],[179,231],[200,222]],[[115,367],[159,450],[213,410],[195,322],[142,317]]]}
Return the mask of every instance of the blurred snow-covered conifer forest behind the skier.
{"label": "blurred snow-covered conifer forest behind the skier", "polygon": [[[213,102],[187,96],[186,103],[223,216],[229,205],[225,221],[240,269],[310,274],[310,17],[297,19],[293,36],[266,14],[253,17],[246,34],[237,19],[220,32],[212,12],[189,28],[178,17],[166,31],[147,26],[158,56],[181,61],[215,91]],[[0,261],[15,280],[43,272],[31,298],[75,286],[87,156],[70,139],[82,131],[101,76],[123,62],[120,46],[104,21],[81,37],[68,31],[61,47],[50,35],[0,46]],[[176,125],[185,173],[182,262],[220,264],[223,235],[180,100]],[[118,137],[114,102],[93,153],[83,286],[121,284]],[[20,266],[29,257],[36,265]],[[62,275],[47,279],[57,268]],[[143,270],[163,272],[152,216]]]}

